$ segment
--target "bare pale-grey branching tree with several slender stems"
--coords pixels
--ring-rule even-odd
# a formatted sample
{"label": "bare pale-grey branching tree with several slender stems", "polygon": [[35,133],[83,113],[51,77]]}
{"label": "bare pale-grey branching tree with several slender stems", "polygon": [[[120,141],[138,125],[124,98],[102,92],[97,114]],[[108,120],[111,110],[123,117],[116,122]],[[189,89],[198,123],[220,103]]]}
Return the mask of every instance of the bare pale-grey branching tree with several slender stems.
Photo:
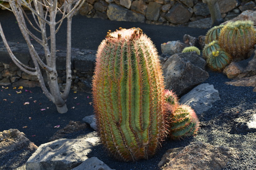
{"label": "bare pale-grey branching tree with several slender stems", "polygon": [[[28,67],[22,62],[20,62],[12,53],[7,40],[4,36],[2,26],[0,23],[0,35],[2,40],[7,48],[7,51],[12,58],[12,61],[25,73],[30,75],[36,75],[39,80],[40,86],[47,96],[48,99],[52,100],[56,104],[57,110],[59,113],[66,113],[66,99],[69,94],[71,86],[71,19],[72,16],[78,11],[82,6],[85,0],[65,0],[62,7],[57,7],[57,0],[2,0],[9,2],[11,9],[16,17],[17,23],[21,30],[21,33],[24,39],[27,42],[29,52],[34,63],[35,67]],[[33,5],[32,5],[33,2]],[[1,4],[0,4],[1,6]],[[22,6],[27,7],[32,11],[33,18],[36,24],[28,19],[26,13],[22,9]],[[4,7],[4,6],[2,6]],[[59,21],[56,21],[57,12],[62,13],[62,18]],[[30,30],[28,30],[25,23],[25,18],[29,24],[38,32],[41,33],[42,39],[38,38]],[[49,20],[47,20],[49,18]],[[56,33],[62,25],[63,20],[67,18],[67,53],[66,53],[66,87],[63,93],[60,92],[58,82],[57,82],[57,71],[56,71]],[[50,36],[47,37],[46,34],[46,24],[50,26]],[[35,39],[37,43],[41,44],[44,48],[46,63],[38,56],[35,48],[33,47],[30,37]],[[50,39],[50,46],[48,46],[48,40]],[[43,81],[42,73],[40,68],[46,70],[49,89],[46,88],[46,85]]]}

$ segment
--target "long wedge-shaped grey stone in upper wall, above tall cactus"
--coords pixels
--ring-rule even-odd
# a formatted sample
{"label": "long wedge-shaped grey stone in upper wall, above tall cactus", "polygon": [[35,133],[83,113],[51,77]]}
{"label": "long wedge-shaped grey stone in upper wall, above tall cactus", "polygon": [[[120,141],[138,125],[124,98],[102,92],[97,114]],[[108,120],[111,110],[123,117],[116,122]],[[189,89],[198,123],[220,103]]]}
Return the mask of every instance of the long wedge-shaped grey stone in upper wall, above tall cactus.
{"label": "long wedge-shaped grey stone in upper wall, above tall cactus", "polygon": [[116,21],[145,22],[144,15],[129,11],[128,9],[113,3],[108,5],[107,16],[110,20]]}

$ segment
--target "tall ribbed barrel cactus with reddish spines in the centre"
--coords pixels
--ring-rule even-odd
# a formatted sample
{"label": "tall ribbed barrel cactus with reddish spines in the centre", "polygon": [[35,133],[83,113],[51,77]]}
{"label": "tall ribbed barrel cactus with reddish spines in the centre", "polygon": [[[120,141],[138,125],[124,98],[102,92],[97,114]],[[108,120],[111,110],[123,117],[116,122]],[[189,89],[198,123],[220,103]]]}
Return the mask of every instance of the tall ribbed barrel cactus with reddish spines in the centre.
{"label": "tall ribbed barrel cactus with reddish spines in the centre", "polygon": [[107,33],[92,94],[101,142],[116,159],[152,157],[164,136],[164,80],[152,41],[139,28]]}

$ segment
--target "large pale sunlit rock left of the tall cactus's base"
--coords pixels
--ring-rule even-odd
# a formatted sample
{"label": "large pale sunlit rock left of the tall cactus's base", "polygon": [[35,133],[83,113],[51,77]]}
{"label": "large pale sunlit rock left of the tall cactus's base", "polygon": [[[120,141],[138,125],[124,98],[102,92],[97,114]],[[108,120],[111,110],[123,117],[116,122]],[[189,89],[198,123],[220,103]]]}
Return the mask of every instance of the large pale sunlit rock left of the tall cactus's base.
{"label": "large pale sunlit rock left of the tall cactus's base", "polygon": [[26,169],[72,169],[81,164],[99,138],[59,139],[38,147],[27,160]]}

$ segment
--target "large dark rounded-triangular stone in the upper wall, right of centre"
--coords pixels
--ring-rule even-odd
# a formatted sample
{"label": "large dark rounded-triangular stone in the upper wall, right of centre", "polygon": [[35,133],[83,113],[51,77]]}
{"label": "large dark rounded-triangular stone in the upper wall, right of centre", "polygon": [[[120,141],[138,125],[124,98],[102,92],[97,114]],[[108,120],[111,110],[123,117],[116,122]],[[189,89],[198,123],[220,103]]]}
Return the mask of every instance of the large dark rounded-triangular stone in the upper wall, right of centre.
{"label": "large dark rounded-triangular stone in the upper wall, right of centre", "polygon": [[184,24],[191,16],[192,13],[180,2],[177,2],[165,15],[166,19],[173,24]]}

